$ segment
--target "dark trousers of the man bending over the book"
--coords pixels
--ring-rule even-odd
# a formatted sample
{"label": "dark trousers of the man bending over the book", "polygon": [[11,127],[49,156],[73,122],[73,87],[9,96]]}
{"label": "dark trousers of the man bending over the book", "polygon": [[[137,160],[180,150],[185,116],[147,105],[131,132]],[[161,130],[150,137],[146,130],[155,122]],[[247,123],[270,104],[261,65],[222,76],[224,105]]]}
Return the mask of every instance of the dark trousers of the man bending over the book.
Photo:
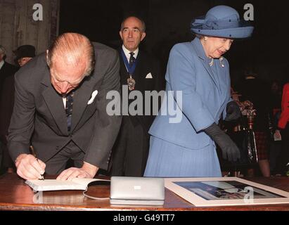
{"label": "dark trousers of the man bending over the book", "polygon": [[46,174],[60,174],[65,170],[68,160],[73,160],[74,167],[80,168],[83,165],[85,153],[73,142],[70,141],[56,155],[46,161]]}

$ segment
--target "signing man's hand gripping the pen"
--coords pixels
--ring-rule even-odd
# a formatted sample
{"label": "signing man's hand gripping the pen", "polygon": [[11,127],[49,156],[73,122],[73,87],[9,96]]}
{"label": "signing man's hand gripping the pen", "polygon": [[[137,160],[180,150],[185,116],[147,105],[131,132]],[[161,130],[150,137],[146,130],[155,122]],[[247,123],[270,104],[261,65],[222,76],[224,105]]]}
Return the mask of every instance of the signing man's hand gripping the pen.
{"label": "signing man's hand gripping the pen", "polygon": [[44,179],[45,163],[32,154],[20,154],[15,160],[17,174],[23,179]]}

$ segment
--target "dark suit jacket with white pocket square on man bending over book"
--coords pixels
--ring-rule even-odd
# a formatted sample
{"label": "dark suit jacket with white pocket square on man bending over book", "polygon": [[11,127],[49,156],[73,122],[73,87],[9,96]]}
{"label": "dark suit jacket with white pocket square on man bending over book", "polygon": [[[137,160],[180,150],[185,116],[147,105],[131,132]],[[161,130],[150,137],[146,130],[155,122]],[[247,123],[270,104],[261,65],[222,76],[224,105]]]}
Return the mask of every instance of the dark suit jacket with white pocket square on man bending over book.
{"label": "dark suit jacket with white pocket square on man bending over book", "polygon": [[[108,46],[94,43],[94,49],[94,72],[75,89],[69,133],[63,99],[51,85],[45,54],[15,74],[15,104],[8,134],[13,160],[29,153],[31,143],[37,157],[46,162],[72,140],[85,152],[85,162],[107,169],[121,117],[106,113],[106,94],[120,91],[120,63],[117,51]],[[98,94],[88,104],[95,90]]]}

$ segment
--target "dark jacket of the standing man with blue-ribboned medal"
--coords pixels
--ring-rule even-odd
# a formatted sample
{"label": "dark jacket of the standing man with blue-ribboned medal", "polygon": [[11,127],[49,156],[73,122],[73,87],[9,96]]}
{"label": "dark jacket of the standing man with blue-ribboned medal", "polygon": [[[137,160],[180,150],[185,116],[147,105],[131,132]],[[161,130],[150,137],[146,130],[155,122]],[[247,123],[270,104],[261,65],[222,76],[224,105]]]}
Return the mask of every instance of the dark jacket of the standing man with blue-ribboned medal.
{"label": "dark jacket of the standing man with blue-ribboned medal", "polygon": [[[119,51],[121,50],[119,49]],[[135,90],[141,91],[141,93],[143,94],[143,103],[144,103],[145,91],[153,91],[153,90],[160,91],[165,83],[165,79],[162,76],[160,63],[155,57],[149,55],[145,51],[139,50],[137,60],[138,60],[138,63],[136,65],[136,70],[134,71],[133,78],[136,81]],[[152,79],[146,78],[148,73],[151,73],[151,75],[153,76]],[[128,78],[129,78],[129,73],[127,72],[127,68],[124,65],[124,61],[120,53],[120,82],[121,84],[127,85]],[[152,107],[150,108],[151,110],[153,110]],[[144,115],[144,110],[145,110],[145,105],[143,104],[143,115],[136,115],[136,116],[129,115],[129,117],[131,119],[131,122],[133,122],[133,124],[139,123],[143,126],[143,129],[148,131],[148,129],[150,128],[150,125],[153,122],[154,116]]]}

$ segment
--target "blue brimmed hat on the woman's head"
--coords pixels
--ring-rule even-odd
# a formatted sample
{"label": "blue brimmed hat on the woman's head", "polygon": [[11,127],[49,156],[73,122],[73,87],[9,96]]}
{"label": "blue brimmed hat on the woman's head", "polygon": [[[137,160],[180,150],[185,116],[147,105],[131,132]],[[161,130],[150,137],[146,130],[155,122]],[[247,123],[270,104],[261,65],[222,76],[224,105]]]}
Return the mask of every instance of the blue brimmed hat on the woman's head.
{"label": "blue brimmed hat on the woman's head", "polygon": [[191,23],[191,31],[195,34],[213,37],[246,38],[253,30],[254,27],[240,20],[239,13],[229,6],[215,6]]}

